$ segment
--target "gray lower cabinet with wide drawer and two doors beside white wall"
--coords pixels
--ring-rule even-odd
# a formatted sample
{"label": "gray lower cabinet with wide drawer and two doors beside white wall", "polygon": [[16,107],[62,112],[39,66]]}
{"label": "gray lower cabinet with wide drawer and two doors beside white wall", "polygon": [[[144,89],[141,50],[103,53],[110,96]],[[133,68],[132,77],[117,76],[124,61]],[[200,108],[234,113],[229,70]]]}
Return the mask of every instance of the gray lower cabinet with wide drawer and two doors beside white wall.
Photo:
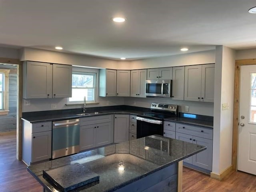
{"label": "gray lower cabinet with wide drawer and two doors beside white wall", "polygon": [[176,139],[206,146],[207,149],[183,161],[193,166],[212,170],[212,134],[213,130],[189,126],[186,124],[176,124]]}

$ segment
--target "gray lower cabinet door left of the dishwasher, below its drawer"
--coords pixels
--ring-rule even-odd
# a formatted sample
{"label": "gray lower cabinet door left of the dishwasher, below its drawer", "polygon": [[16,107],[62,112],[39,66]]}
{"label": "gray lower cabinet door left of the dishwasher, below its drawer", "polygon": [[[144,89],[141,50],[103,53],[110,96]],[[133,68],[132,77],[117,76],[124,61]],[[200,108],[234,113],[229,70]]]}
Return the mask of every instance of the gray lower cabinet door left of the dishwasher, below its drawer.
{"label": "gray lower cabinet door left of the dishwasher, below its drawer", "polygon": [[50,158],[52,158],[52,131],[33,133],[31,162]]}

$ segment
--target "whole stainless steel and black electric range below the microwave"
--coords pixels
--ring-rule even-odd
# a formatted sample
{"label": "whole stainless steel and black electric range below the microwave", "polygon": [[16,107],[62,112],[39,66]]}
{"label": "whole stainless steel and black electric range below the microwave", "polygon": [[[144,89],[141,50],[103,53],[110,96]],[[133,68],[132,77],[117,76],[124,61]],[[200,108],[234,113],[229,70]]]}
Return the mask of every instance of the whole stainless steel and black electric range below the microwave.
{"label": "whole stainless steel and black electric range below the microwave", "polygon": [[151,112],[137,116],[137,138],[164,134],[164,119],[178,115],[178,105],[152,103]]}

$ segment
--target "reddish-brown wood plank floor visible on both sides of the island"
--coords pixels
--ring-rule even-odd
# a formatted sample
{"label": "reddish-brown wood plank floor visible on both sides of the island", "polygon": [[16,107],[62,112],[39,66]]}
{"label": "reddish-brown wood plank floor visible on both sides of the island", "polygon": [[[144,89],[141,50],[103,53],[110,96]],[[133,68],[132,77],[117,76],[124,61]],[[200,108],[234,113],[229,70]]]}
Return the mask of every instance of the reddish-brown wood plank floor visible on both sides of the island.
{"label": "reddish-brown wood plank floor visible on both sides of the island", "polygon": [[[256,176],[233,171],[223,181],[183,168],[183,192],[256,192]],[[0,192],[42,192],[42,186],[16,160],[16,135],[0,133]]]}

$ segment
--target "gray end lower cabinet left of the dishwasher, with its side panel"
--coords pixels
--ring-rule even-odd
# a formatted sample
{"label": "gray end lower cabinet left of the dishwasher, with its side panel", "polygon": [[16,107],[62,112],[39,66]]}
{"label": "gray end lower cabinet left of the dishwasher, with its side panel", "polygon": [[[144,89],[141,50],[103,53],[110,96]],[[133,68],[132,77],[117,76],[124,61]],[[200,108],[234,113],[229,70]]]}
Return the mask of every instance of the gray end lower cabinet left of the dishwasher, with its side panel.
{"label": "gray end lower cabinet left of the dishwasher, with its side panel", "polygon": [[52,158],[52,122],[22,122],[22,160],[34,162]]}

